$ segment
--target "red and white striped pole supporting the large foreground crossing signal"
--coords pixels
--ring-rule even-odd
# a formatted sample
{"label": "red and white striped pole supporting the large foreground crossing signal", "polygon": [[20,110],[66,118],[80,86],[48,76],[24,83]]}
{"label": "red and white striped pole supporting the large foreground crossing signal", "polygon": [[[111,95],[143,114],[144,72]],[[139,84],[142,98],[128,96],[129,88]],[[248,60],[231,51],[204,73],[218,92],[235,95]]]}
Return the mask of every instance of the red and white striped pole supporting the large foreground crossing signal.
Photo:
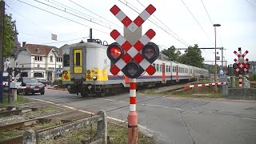
{"label": "red and white striped pole supporting the large foreground crossing signal", "polygon": [[130,78],[130,112],[128,114],[128,143],[138,142],[138,114],[136,112],[136,78]]}

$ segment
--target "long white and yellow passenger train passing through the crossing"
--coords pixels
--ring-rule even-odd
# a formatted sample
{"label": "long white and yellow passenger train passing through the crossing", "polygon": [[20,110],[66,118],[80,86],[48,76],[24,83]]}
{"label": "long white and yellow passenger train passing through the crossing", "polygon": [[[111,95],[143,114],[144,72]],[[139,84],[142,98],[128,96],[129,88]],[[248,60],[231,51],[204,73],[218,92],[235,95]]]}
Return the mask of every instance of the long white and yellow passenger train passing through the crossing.
{"label": "long white and yellow passenger train passing through the crossing", "polygon": [[[62,85],[70,94],[104,96],[116,94],[130,86],[130,78],[122,71],[117,75],[110,73],[107,47],[102,42],[90,41],[74,43],[62,49]],[[209,75],[209,70],[169,61],[162,53],[152,65],[156,72],[153,75],[143,73],[138,77],[138,88],[189,82]]]}

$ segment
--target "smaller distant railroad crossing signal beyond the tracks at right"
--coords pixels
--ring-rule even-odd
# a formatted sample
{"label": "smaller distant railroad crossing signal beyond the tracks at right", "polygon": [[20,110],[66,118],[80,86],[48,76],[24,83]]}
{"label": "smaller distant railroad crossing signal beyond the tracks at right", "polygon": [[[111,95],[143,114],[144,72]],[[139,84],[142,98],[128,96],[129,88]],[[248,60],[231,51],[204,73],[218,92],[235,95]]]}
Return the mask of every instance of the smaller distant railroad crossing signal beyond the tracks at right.
{"label": "smaller distant railroad crossing signal beyond the tracks at right", "polygon": [[233,64],[233,68],[234,68],[234,74],[244,74],[249,73],[249,68],[250,68],[250,64],[248,63],[249,59],[245,58],[246,54],[248,54],[249,52],[246,50],[246,52],[244,54],[238,54],[237,51],[234,50],[234,54],[236,54],[238,56],[238,59],[234,58],[234,64]]}

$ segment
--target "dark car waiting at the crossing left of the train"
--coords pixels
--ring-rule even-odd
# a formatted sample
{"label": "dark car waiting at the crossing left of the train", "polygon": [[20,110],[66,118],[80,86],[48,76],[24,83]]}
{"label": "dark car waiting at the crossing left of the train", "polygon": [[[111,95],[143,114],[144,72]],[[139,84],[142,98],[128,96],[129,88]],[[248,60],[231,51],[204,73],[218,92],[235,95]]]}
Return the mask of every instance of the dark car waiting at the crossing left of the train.
{"label": "dark car waiting at the crossing left of the train", "polygon": [[41,82],[38,82],[36,78],[19,78],[18,82],[22,82],[22,87],[25,87],[24,89],[18,89],[17,94],[24,92],[25,94],[45,94],[45,86]]}

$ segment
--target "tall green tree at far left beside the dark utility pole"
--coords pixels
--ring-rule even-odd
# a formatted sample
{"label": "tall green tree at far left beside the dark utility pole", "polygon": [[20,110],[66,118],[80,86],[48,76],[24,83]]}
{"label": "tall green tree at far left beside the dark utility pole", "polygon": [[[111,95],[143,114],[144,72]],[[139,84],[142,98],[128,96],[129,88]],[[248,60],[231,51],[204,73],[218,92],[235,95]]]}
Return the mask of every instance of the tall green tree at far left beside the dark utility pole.
{"label": "tall green tree at far left beside the dark utility pole", "polygon": [[11,20],[11,14],[5,15],[4,23],[4,37],[3,37],[3,57],[10,57],[14,54],[14,28],[15,21]]}

